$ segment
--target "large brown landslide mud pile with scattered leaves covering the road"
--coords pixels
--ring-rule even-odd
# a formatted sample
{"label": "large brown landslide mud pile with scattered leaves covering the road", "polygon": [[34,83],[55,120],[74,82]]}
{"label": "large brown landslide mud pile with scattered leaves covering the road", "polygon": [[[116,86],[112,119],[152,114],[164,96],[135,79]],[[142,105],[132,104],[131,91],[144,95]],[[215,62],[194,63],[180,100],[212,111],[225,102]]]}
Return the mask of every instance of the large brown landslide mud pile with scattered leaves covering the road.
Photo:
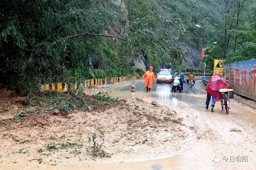
{"label": "large brown landslide mud pile with scattered leaves covering the road", "polygon": [[[38,107],[24,105],[24,98],[0,94],[4,95],[1,99],[10,99],[1,100],[0,159],[10,162],[42,159],[50,164],[57,160],[67,162],[76,156],[80,160],[81,155],[88,160],[111,156],[115,161],[138,154],[150,157],[177,151],[177,144],[186,137],[182,119],[156,102],[138,98],[112,102],[85,96],[91,111],[48,111],[43,103],[43,111],[38,112]],[[26,111],[20,119],[6,119],[20,110]]]}

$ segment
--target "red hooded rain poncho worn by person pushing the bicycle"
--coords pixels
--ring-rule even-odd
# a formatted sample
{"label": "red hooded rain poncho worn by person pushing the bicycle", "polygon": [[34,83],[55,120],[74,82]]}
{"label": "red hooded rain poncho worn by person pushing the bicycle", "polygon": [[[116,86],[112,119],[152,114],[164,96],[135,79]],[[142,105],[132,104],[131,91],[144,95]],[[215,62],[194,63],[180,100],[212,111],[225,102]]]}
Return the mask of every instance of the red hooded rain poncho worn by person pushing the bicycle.
{"label": "red hooded rain poncho worn by person pushing the bicycle", "polygon": [[208,85],[206,86],[205,90],[211,96],[217,96],[217,101],[220,100],[220,89],[227,89],[228,84],[219,76],[220,74],[217,72],[215,76],[210,78]]}

